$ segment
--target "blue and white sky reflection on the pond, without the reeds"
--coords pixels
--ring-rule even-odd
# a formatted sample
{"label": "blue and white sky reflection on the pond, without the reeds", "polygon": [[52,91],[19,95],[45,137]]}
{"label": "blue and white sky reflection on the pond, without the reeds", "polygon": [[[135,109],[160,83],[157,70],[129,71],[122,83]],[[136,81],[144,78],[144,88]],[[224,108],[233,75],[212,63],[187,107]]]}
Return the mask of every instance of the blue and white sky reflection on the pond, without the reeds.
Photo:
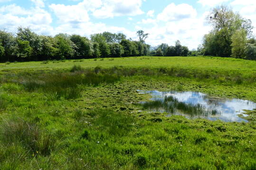
{"label": "blue and white sky reflection on the pond, without the reeds", "polygon": [[[138,90],[139,91],[139,90]],[[164,99],[168,96],[172,96],[174,99],[177,99],[178,102],[183,102],[188,105],[197,105],[200,104],[206,110],[217,110],[218,114],[209,114],[209,115],[190,115],[186,111],[176,110],[175,112],[170,112],[170,110],[166,109],[166,107],[154,108],[152,111],[161,111],[170,113],[171,115],[182,115],[187,118],[205,118],[209,120],[223,120],[227,122],[237,121],[247,122],[246,119],[239,118],[238,114],[243,114],[243,110],[253,110],[256,109],[256,103],[250,102],[247,100],[240,99],[220,99],[220,98],[212,98],[204,93],[199,92],[159,92],[159,91],[139,91],[140,93],[149,93],[152,95],[152,101],[161,101],[164,102]],[[142,102],[145,103],[145,102]],[[173,103],[168,103],[171,105]],[[165,103],[166,105],[166,103]],[[244,116],[247,116],[243,114]]]}

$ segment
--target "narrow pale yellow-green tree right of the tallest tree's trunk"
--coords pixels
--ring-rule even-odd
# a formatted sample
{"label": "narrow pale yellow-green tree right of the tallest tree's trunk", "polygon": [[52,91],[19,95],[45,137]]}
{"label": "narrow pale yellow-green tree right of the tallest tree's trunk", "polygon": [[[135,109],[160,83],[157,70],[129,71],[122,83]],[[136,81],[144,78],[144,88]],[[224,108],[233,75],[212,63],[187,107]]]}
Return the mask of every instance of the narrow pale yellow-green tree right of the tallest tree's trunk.
{"label": "narrow pale yellow-green tree right of the tallest tree's trunk", "polygon": [[235,34],[232,35],[232,54],[231,57],[234,58],[245,58],[245,47],[247,43],[245,30],[237,30]]}

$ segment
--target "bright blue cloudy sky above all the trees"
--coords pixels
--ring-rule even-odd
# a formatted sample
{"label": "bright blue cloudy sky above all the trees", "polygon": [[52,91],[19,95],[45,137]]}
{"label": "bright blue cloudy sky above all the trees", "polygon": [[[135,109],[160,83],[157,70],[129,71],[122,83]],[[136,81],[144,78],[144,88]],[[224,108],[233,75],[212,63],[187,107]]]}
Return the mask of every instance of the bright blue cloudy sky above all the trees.
{"label": "bright blue cloudy sky above all the trees", "polygon": [[0,30],[15,34],[22,26],[37,34],[88,38],[108,31],[133,40],[143,30],[149,33],[147,44],[174,45],[180,40],[191,50],[212,29],[206,21],[209,11],[221,4],[251,19],[256,27],[256,0],[0,0]]}

